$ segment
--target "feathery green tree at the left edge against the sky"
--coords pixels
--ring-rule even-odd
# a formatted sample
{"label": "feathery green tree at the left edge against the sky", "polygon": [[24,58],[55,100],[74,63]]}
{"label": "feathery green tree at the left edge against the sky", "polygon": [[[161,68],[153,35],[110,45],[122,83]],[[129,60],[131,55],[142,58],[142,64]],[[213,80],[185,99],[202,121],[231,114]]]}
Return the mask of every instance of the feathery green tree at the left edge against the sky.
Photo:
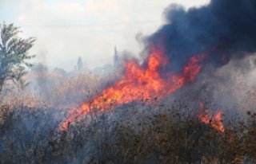
{"label": "feathery green tree at the left edge against the sky", "polygon": [[28,55],[35,38],[22,39],[18,37],[18,34],[22,33],[19,29],[14,24],[6,25],[5,22],[0,24],[0,93],[6,80],[14,78],[14,71],[22,70],[25,66],[31,67],[32,64],[26,60],[35,57]]}

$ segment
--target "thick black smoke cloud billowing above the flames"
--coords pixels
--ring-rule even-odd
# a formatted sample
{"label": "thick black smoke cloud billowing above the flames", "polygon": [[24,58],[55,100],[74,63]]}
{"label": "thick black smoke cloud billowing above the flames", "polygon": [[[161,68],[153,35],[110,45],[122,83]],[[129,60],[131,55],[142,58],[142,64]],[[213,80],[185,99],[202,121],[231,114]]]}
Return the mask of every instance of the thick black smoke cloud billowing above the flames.
{"label": "thick black smoke cloud billowing above the flames", "polygon": [[166,69],[181,71],[190,57],[208,53],[214,67],[240,60],[256,50],[256,1],[211,0],[207,6],[185,10],[171,5],[166,25],[147,38],[170,58]]}

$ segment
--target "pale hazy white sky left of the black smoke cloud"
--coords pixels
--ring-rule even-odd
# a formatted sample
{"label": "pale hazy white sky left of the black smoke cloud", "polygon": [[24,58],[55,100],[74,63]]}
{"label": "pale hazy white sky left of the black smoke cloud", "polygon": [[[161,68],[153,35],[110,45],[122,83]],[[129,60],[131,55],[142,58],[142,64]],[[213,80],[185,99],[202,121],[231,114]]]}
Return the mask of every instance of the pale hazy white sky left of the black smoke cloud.
{"label": "pale hazy white sky left of the black smoke cloud", "polygon": [[78,57],[87,68],[112,64],[118,53],[138,57],[148,36],[165,23],[172,3],[186,9],[210,0],[0,0],[0,23],[21,27],[21,37],[36,37],[33,62],[73,70]]}

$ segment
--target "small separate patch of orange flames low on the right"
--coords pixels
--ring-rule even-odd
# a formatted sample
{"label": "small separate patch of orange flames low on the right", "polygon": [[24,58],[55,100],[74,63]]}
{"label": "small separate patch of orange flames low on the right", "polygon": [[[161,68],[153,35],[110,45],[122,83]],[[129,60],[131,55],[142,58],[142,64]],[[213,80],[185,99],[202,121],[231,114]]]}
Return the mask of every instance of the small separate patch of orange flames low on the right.
{"label": "small separate patch of orange flames low on the right", "polygon": [[[201,109],[204,107],[202,102],[199,102]],[[213,117],[210,117],[209,110],[201,111],[198,115],[198,119],[202,121],[202,123],[210,124],[214,129],[224,132],[224,126],[222,123],[222,111],[218,111]]]}

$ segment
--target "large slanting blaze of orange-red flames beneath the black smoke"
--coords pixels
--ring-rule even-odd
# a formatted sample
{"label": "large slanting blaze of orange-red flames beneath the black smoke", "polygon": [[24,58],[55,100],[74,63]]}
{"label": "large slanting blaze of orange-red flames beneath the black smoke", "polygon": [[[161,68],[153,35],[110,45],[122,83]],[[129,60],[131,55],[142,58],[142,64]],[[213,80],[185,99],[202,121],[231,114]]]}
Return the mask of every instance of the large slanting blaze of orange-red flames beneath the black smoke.
{"label": "large slanting blaze of orange-red flames beneath the black smoke", "polygon": [[103,90],[102,96],[96,96],[93,100],[83,103],[78,109],[72,109],[70,118],[62,123],[60,129],[66,131],[70,123],[82,119],[90,113],[91,109],[104,112],[133,101],[144,101],[149,98],[162,99],[184,84],[194,81],[205,57],[206,54],[191,57],[181,73],[170,73],[166,75],[167,78],[163,78],[159,70],[168,61],[161,51],[154,49],[146,65],[140,65],[137,61],[127,61],[122,79]]}

